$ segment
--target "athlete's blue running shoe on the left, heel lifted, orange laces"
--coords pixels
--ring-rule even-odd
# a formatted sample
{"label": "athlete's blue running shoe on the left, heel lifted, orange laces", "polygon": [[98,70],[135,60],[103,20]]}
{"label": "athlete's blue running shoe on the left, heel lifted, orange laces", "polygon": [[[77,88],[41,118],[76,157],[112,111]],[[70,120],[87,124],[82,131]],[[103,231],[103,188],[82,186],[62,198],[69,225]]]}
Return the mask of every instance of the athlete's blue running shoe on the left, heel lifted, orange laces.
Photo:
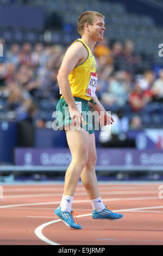
{"label": "athlete's blue running shoe on the left, heel lifted, orange laces", "polygon": [[82,229],[80,225],[75,222],[75,218],[77,219],[76,215],[74,214],[73,210],[71,212],[68,211],[61,211],[60,206],[55,209],[54,214],[57,215],[61,220],[72,229]]}

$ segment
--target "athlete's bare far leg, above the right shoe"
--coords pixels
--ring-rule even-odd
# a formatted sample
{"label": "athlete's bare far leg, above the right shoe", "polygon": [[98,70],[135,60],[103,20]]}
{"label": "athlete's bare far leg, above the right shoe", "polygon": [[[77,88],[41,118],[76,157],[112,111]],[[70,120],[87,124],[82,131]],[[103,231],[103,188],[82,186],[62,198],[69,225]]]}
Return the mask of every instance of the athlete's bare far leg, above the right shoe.
{"label": "athlete's bare far leg, above the right shoe", "polygon": [[82,180],[82,183],[86,189],[86,192],[90,200],[93,200],[99,197],[97,177],[95,172],[96,160],[97,160],[97,156],[96,156],[95,134],[92,133],[89,135],[88,160],[85,167],[83,168],[82,174],[80,175],[80,178]]}

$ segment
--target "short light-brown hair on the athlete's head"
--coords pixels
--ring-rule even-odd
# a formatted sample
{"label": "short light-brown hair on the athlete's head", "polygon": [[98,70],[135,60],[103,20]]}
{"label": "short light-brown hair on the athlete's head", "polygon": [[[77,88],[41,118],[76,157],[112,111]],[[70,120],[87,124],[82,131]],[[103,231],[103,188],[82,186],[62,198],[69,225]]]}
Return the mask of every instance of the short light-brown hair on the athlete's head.
{"label": "short light-brown hair on the athlete's head", "polygon": [[101,13],[98,13],[98,11],[85,11],[83,14],[80,15],[78,19],[78,32],[80,35],[83,34],[84,24],[89,23],[89,25],[93,25],[93,22],[95,21],[97,16],[104,19],[104,16]]}

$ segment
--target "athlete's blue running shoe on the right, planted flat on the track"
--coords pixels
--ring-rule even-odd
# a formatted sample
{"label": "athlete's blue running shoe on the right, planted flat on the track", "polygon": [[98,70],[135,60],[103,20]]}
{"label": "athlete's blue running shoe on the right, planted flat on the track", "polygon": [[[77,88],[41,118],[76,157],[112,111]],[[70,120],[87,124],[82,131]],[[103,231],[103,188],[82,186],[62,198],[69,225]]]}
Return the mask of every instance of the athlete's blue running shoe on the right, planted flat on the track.
{"label": "athlete's blue running shoe on the right, planted flat on the track", "polygon": [[110,221],[117,221],[117,220],[120,220],[120,218],[122,217],[123,217],[122,214],[116,214],[116,212],[110,211],[108,208],[106,208],[106,205],[104,210],[102,211],[93,210],[92,212],[92,218],[97,220],[105,219]]}

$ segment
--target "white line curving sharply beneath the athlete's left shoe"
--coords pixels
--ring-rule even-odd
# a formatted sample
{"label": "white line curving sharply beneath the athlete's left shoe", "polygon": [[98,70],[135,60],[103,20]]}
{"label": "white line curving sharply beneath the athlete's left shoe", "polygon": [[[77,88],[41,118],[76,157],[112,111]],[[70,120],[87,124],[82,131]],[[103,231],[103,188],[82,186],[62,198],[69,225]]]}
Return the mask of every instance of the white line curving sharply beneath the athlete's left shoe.
{"label": "white line curving sharply beneath the athlete's left shoe", "polygon": [[[132,212],[134,210],[143,210],[143,209],[160,209],[160,208],[163,208],[163,206],[152,206],[152,207],[144,207],[144,208],[130,208],[130,209],[121,209],[121,210],[116,210],[116,212]],[[115,211],[113,211],[115,212]],[[85,217],[85,216],[91,216],[92,214],[84,214],[84,215],[79,215],[78,218],[80,217]],[[59,220],[55,220],[55,221],[50,221],[50,222],[46,222],[46,223],[43,223],[42,225],[40,225],[39,227],[37,227],[35,229],[35,235],[40,239],[42,240],[43,242],[46,242],[46,243],[49,243],[49,245],[60,245],[59,243],[56,243],[54,241],[51,241],[49,239],[47,239],[46,236],[44,236],[42,234],[42,230],[43,228],[47,227],[48,225],[51,225],[53,223],[56,223],[56,222],[59,222],[61,221],[60,219]]]}

